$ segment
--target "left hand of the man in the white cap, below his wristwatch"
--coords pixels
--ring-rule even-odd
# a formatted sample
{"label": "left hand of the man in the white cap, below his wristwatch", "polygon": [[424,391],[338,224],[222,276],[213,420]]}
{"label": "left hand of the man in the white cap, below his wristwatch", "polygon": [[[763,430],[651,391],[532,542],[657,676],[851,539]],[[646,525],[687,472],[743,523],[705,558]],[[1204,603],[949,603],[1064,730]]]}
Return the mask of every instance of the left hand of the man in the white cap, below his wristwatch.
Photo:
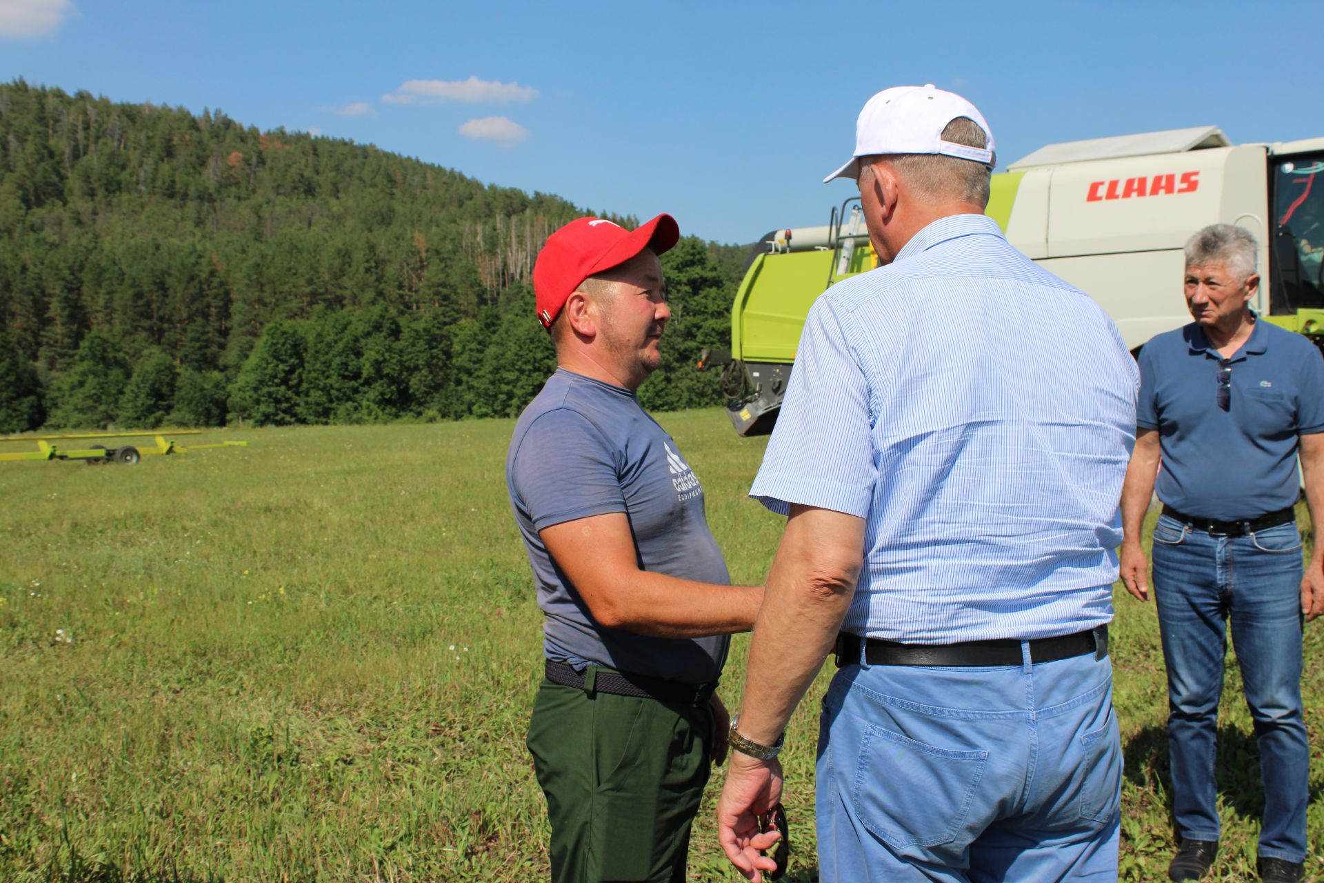
{"label": "left hand of the man in the white cap, below his wristwatch", "polygon": [[772,849],[781,834],[759,830],[759,817],[772,813],[781,801],[781,763],[755,760],[735,752],[727,768],[727,784],[718,801],[718,842],[727,858],[747,880],[759,883],[761,871],[772,871],[777,863],[761,855]]}

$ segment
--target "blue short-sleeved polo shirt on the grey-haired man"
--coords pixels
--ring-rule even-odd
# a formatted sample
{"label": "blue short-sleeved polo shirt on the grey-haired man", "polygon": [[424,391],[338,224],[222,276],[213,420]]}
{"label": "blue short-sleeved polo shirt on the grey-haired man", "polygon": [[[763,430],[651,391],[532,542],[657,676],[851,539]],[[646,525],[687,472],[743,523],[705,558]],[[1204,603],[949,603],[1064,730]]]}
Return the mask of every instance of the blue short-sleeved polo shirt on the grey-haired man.
{"label": "blue short-sleeved polo shirt on the grey-haired man", "polygon": [[1158,499],[1235,522],[1296,502],[1298,437],[1324,432],[1324,357],[1304,335],[1259,320],[1227,364],[1223,410],[1223,359],[1204,330],[1193,322],[1156,336],[1140,351],[1136,425],[1160,432]]}

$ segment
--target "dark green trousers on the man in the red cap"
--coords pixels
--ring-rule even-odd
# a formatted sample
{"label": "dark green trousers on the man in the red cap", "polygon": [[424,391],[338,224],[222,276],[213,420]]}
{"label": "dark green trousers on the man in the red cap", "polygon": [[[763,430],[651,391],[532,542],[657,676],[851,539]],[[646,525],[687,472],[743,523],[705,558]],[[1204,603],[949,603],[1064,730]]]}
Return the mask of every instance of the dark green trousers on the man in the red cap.
{"label": "dark green trousers on the man in the red cap", "polygon": [[707,703],[543,680],[528,751],[552,822],[553,883],[683,883],[712,720]]}

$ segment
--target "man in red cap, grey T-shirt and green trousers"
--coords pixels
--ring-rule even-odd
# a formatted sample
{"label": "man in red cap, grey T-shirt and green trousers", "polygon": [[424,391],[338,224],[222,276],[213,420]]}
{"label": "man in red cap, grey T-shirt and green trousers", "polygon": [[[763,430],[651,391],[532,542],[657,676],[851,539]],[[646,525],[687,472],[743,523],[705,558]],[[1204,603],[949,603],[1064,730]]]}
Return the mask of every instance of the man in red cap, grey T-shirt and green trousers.
{"label": "man in red cap, grey T-shirt and green trousers", "polygon": [[559,367],[520,414],[506,481],[545,614],[528,749],[557,883],[685,879],[726,753],[727,635],[763,600],[730,585],[699,479],[634,392],[661,361],[658,256],[679,236],[669,214],[633,232],[584,217],[534,267]]}

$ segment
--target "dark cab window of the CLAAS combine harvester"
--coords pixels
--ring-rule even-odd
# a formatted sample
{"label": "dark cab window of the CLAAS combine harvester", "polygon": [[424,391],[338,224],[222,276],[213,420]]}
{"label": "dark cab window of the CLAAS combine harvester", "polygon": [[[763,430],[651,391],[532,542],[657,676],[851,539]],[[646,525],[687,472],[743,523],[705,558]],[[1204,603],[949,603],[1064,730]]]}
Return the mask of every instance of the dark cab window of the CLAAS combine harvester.
{"label": "dark cab window of the CLAAS combine harvester", "polygon": [[1324,308],[1324,154],[1278,164],[1274,221],[1270,312]]}

